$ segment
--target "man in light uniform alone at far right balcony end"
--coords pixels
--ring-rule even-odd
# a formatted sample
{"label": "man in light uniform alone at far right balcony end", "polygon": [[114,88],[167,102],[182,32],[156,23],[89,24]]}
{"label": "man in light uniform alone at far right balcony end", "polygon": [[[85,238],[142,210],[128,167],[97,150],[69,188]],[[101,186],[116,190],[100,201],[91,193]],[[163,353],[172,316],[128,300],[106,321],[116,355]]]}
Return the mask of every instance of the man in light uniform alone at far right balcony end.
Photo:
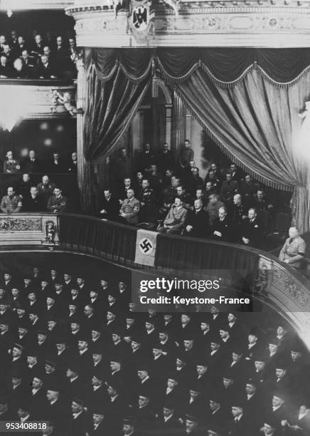
{"label": "man in light uniform alone at far right balcony end", "polygon": [[299,236],[299,231],[296,227],[290,227],[289,237],[285,241],[284,246],[282,246],[279,259],[299,269],[302,266],[302,260],[305,254],[306,242]]}

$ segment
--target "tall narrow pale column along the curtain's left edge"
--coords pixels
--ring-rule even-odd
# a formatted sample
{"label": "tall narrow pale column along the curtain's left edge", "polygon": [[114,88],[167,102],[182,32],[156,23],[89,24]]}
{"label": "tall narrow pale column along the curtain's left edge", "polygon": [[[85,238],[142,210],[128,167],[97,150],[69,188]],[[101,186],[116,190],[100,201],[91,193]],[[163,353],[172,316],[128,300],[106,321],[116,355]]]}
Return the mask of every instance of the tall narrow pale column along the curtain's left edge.
{"label": "tall narrow pale column along the curtain's left edge", "polygon": [[77,63],[77,108],[82,108],[83,113],[77,114],[77,185],[80,192],[80,206],[82,210],[86,209],[89,204],[87,198],[82,195],[84,186],[84,123],[85,123],[85,97],[86,97],[86,72],[84,61],[78,59]]}

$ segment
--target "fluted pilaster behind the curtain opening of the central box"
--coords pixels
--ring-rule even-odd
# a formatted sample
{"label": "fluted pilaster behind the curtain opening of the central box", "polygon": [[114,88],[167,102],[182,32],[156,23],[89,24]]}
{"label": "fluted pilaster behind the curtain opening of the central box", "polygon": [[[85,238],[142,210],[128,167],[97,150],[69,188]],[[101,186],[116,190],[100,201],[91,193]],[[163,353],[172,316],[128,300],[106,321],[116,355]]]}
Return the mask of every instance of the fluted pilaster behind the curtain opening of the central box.
{"label": "fluted pilaster behind the curtain opening of the central box", "polygon": [[173,93],[171,152],[177,160],[185,139],[186,108],[176,93]]}

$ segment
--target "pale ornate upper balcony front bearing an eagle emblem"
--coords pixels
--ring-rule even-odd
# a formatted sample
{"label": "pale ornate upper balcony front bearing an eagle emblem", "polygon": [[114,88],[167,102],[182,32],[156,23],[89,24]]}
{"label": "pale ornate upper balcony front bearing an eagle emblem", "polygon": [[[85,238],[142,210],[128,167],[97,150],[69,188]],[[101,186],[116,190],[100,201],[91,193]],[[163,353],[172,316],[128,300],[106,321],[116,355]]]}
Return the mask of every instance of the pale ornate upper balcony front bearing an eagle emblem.
{"label": "pale ornate upper balcony front bearing an eagle emblem", "polygon": [[77,46],[310,46],[310,0],[131,1],[75,0]]}

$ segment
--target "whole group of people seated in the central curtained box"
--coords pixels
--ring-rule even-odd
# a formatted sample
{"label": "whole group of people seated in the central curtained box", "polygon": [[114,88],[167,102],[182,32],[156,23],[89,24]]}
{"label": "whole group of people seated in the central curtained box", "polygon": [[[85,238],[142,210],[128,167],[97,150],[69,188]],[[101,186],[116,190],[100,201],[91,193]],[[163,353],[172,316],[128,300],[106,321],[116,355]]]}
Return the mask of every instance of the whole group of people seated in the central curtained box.
{"label": "whole group of people seated in the central curtained box", "polygon": [[178,162],[168,144],[158,155],[146,144],[135,170],[122,149],[114,165],[114,189],[104,191],[98,217],[248,246],[260,246],[262,235],[274,225],[277,207],[262,185],[234,163],[219,168],[212,162],[203,180],[188,140]]}

